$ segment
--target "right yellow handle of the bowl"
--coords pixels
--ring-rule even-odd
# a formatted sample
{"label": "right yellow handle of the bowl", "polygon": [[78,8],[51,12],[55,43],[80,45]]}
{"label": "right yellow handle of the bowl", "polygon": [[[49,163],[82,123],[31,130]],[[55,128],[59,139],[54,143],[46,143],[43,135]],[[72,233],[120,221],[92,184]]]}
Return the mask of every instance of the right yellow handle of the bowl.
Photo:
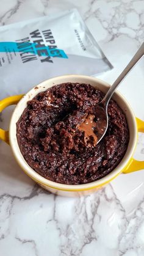
{"label": "right yellow handle of the bowl", "polygon": [[[137,121],[137,130],[139,133],[144,133],[144,121],[140,120],[136,117]],[[135,170],[142,170],[144,169],[144,161],[137,161],[134,158],[131,158],[131,160],[128,163],[128,166],[124,168],[123,174],[129,174],[129,172],[135,172]]]}

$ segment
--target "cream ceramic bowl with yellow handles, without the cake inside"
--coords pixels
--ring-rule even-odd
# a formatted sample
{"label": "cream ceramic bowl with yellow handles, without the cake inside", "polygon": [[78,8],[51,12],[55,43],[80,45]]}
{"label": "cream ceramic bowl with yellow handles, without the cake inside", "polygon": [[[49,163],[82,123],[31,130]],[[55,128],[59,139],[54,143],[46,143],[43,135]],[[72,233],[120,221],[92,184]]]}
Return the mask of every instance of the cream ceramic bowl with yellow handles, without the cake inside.
{"label": "cream ceramic bowl with yellow handles, without the cake inside", "polygon": [[54,86],[55,84],[60,84],[62,82],[89,83],[93,87],[98,88],[104,93],[106,93],[109,89],[109,84],[99,79],[91,78],[89,76],[67,75],[59,76],[41,82],[41,84],[38,84],[37,87],[34,87],[32,90],[27,92],[26,95],[16,95],[9,98],[5,98],[4,100],[0,101],[0,112],[7,106],[18,103],[10,120],[10,130],[4,131],[0,129],[0,139],[10,144],[15,159],[21,166],[21,168],[24,170],[24,172],[26,172],[26,174],[29,175],[29,177],[31,177],[40,186],[47,189],[48,191],[51,191],[55,194],[59,194],[60,196],[79,196],[93,192],[99,187],[106,185],[106,183],[109,183],[121,172],[126,174],[129,172],[134,172],[135,170],[144,169],[144,161],[136,161],[134,158],[132,158],[132,155],[137,144],[137,133],[144,133],[144,122],[138,118],[135,118],[134,113],[131,107],[129,106],[128,102],[119,92],[114,93],[112,98],[115,101],[117,101],[118,105],[123,109],[123,111],[126,114],[130,131],[130,140],[128,150],[124,155],[124,158],[121,160],[121,163],[118,164],[118,166],[112,172],[110,172],[110,174],[108,174],[106,177],[101,178],[98,181],[93,181],[92,183],[84,185],[63,185],[60,183],[49,181],[46,178],[41,177],[26,163],[26,161],[23,158],[23,155],[21,155],[20,148],[18,147],[16,139],[16,122],[23,113],[24,108],[26,108],[26,103],[28,100],[31,100],[35,95],[37,95],[37,93],[46,90],[49,87]]}

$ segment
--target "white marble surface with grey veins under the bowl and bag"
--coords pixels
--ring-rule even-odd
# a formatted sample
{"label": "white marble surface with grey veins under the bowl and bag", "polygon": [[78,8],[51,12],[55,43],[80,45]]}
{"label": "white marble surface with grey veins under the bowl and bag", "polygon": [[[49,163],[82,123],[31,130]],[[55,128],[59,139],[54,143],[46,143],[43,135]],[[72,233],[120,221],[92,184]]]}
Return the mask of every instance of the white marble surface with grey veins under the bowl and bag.
{"label": "white marble surface with grey veins under the bowl and bag", "polygon": [[[114,66],[99,76],[110,83],[144,40],[143,0],[0,0],[0,6],[1,26],[76,7]],[[143,64],[119,90],[144,120]],[[4,112],[1,126],[7,125],[10,111]],[[4,142],[0,152],[1,256],[144,255],[144,170],[120,175],[90,196],[65,198],[35,185]],[[143,134],[135,158],[144,159]]]}

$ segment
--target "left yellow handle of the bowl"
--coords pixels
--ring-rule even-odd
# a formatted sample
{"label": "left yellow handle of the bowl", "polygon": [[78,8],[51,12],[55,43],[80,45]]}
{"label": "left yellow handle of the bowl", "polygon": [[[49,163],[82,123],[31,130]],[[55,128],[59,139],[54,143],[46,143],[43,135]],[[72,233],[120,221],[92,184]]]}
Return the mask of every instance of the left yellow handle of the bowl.
{"label": "left yellow handle of the bowl", "polygon": [[[23,95],[21,94],[21,95],[10,96],[8,98],[4,98],[3,100],[1,100],[0,112],[2,112],[3,109],[7,108],[10,105],[17,104],[22,97]],[[0,139],[2,139],[2,141],[5,141],[7,144],[9,144],[9,131],[5,131],[0,128]]]}

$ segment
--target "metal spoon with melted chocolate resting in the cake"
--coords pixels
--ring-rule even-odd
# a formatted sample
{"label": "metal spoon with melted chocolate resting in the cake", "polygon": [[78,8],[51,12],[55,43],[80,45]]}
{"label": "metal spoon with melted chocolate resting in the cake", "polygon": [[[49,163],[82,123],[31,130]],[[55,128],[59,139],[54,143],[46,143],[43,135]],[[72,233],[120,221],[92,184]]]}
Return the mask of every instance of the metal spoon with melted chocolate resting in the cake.
{"label": "metal spoon with melted chocolate resting in the cake", "polygon": [[[144,43],[142,43],[142,46],[140,46],[137,53],[134,55],[134,57],[131,59],[129,64],[124,68],[124,70],[121,72],[120,76],[113,82],[112,86],[106,93],[103,100],[96,104],[95,106],[95,117],[97,119],[96,121],[96,136],[98,137],[98,142],[101,141],[101,139],[104,137],[104,134],[107,131],[107,126],[109,122],[109,117],[107,114],[107,106],[109,104],[110,98],[112,97],[113,93],[117,89],[117,87],[120,85],[120,83],[123,81],[123,79],[128,75],[129,71],[134,67],[135,64],[142,58],[144,55]],[[98,142],[96,144],[98,144]]]}

